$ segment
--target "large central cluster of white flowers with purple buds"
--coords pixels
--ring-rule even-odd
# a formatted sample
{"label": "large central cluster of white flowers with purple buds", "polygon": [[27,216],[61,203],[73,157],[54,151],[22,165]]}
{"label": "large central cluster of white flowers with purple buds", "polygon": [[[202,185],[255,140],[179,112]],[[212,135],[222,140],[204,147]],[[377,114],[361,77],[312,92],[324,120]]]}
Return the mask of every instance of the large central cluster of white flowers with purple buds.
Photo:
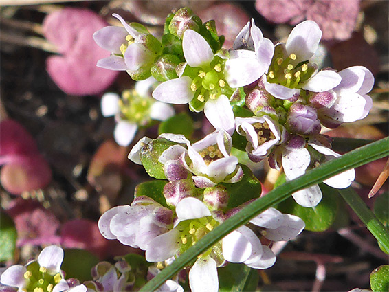
{"label": "large central cluster of white flowers with purple buds", "polygon": [[[232,155],[234,148],[254,162],[268,159],[271,168],[283,170],[292,180],[340,156],[331,150],[322,126],[360,120],[372,107],[367,93],[374,78],[368,69],[355,66],[337,72],[313,62],[322,36],[313,21],[298,24],[285,44],[276,45],[249,21],[227,51],[221,48],[223,36],[217,35],[214,21],[202,23],[188,8],[169,14],[161,41],[137,23],[113,16],[124,28],[105,27],[95,33],[96,43],[112,52],[98,65],[126,70],[134,80],[153,76],[162,82],[153,90],[155,100],[188,103],[191,111],[204,111],[216,129],[194,143],[191,137],[171,133],[144,137],[129,153],[148,175],[166,180],[148,182],[149,192],[140,184],[131,205],[108,210],[98,225],[105,238],[146,251],[149,262],[174,260],[260,196],[258,179]],[[136,104],[136,98],[132,100]],[[143,111],[135,106],[130,115],[122,110],[120,117],[131,120]],[[151,111],[148,117],[153,118]],[[132,127],[143,119],[132,121]],[[324,183],[346,188],[354,177],[354,170],[347,170]],[[315,185],[293,198],[313,207],[322,192]],[[198,256],[189,271],[192,291],[217,291],[217,267],[227,262],[271,267],[276,260],[272,242],[291,240],[302,229],[300,218],[265,210]]]}

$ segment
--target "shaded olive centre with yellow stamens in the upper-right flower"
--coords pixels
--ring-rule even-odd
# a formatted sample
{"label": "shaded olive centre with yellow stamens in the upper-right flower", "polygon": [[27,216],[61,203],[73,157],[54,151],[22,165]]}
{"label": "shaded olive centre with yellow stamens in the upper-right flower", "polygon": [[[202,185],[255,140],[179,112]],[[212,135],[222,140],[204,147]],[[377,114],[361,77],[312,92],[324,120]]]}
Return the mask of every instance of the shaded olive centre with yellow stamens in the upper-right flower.
{"label": "shaded olive centre with yellow stamens in the upper-right flower", "polygon": [[315,71],[315,67],[308,61],[298,63],[296,54],[286,58],[274,56],[271,60],[267,81],[289,88],[300,88],[302,82],[307,81]]}

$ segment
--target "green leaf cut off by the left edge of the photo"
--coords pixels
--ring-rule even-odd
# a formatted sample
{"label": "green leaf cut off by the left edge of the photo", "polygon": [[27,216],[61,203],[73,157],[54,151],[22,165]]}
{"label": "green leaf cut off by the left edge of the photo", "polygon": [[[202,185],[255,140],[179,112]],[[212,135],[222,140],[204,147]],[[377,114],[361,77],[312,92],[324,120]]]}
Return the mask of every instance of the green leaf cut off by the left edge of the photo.
{"label": "green leaf cut off by the left edge of the photo", "polygon": [[3,210],[0,213],[0,261],[12,260],[14,258],[16,239],[18,234],[12,218],[5,214]]}

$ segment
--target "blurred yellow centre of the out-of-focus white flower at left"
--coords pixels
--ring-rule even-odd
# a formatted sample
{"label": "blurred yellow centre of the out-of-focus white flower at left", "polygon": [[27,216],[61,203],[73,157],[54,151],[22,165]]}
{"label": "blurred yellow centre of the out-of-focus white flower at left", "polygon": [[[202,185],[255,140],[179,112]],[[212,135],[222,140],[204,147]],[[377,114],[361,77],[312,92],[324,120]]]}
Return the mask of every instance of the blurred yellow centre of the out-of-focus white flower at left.
{"label": "blurred yellow centre of the out-of-focus white flower at left", "polygon": [[140,96],[135,90],[126,90],[119,100],[120,113],[125,120],[135,122],[140,126],[146,125],[149,120],[151,98]]}

